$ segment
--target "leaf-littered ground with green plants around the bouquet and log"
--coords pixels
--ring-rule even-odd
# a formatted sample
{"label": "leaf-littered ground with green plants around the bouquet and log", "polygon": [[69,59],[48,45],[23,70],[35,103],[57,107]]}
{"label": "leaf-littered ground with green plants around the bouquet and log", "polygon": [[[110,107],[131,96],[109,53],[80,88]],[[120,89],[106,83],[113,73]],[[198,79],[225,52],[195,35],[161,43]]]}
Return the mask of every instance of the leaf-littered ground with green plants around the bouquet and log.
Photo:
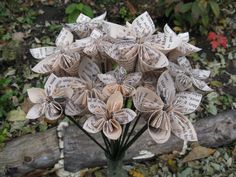
{"label": "leaf-littered ground with green plants around the bouquet and log", "polygon": [[[0,147],[15,137],[42,132],[55,126],[40,120],[25,120],[25,113],[30,107],[26,89],[42,87],[44,82],[43,76],[30,70],[37,61],[30,55],[29,49],[53,45],[62,24],[73,21],[81,11],[95,16],[107,11],[108,20],[120,24],[125,24],[126,20],[132,21],[141,12],[148,11],[158,30],[168,23],[177,32],[189,31],[191,42],[203,49],[191,56],[191,63],[211,70],[209,83],[214,89],[214,92],[205,95],[198,112],[191,114],[190,119],[194,122],[224,110],[235,109],[236,3],[230,0],[216,4],[211,2],[84,0],[82,5],[85,8],[75,11],[71,5],[73,1],[67,0],[0,2]],[[204,16],[199,14],[196,7],[204,9]],[[226,45],[210,40],[210,32],[225,37]],[[191,148],[189,151],[192,151]],[[236,176],[235,144],[205,149],[204,153],[205,158],[199,157],[199,160],[185,163],[185,156],[169,154],[145,163],[130,164],[127,168],[134,177],[173,174],[181,177],[202,174]],[[103,170],[96,168],[85,171],[84,176],[102,176],[102,173]]]}

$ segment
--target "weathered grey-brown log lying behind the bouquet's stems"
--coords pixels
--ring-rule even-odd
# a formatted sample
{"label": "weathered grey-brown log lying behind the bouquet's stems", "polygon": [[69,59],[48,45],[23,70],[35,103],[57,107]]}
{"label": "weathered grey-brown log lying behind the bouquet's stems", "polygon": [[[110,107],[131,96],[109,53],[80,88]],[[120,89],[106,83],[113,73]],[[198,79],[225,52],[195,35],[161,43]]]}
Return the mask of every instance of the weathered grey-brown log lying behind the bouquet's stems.
{"label": "weathered grey-brown log lying behind the bouquet's stems", "polygon": [[[206,147],[219,147],[236,140],[236,111],[231,110],[216,116],[201,119],[194,124],[199,144]],[[100,134],[95,135],[97,140]],[[172,136],[165,144],[156,144],[146,132],[126,153],[126,160],[138,156],[140,150],[154,154],[181,150],[182,140]],[[70,126],[64,135],[65,169],[77,171],[84,167],[103,165],[106,162],[99,149],[77,127]],[[26,135],[8,142],[0,152],[0,166],[9,169],[12,176],[20,177],[31,171],[53,166],[59,160],[59,147],[56,129],[44,133]]]}

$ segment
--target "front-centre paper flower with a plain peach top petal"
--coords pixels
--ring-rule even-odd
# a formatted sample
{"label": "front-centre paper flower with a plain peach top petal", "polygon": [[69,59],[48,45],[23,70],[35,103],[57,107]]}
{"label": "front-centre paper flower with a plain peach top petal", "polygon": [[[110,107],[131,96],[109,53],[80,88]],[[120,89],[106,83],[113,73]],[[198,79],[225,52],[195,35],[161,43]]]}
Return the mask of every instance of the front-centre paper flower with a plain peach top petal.
{"label": "front-centre paper flower with a plain peach top petal", "polygon": [[120,92],[112,94],[105,104],[96,98],[89,98],[88,109],[93,114],[89,117],[83,128],[90,133],[98,133],[101,130],[109,139],[116,140],[122,133],[120,124],[131,122],[136,113],[123,107],[123,97]]}

